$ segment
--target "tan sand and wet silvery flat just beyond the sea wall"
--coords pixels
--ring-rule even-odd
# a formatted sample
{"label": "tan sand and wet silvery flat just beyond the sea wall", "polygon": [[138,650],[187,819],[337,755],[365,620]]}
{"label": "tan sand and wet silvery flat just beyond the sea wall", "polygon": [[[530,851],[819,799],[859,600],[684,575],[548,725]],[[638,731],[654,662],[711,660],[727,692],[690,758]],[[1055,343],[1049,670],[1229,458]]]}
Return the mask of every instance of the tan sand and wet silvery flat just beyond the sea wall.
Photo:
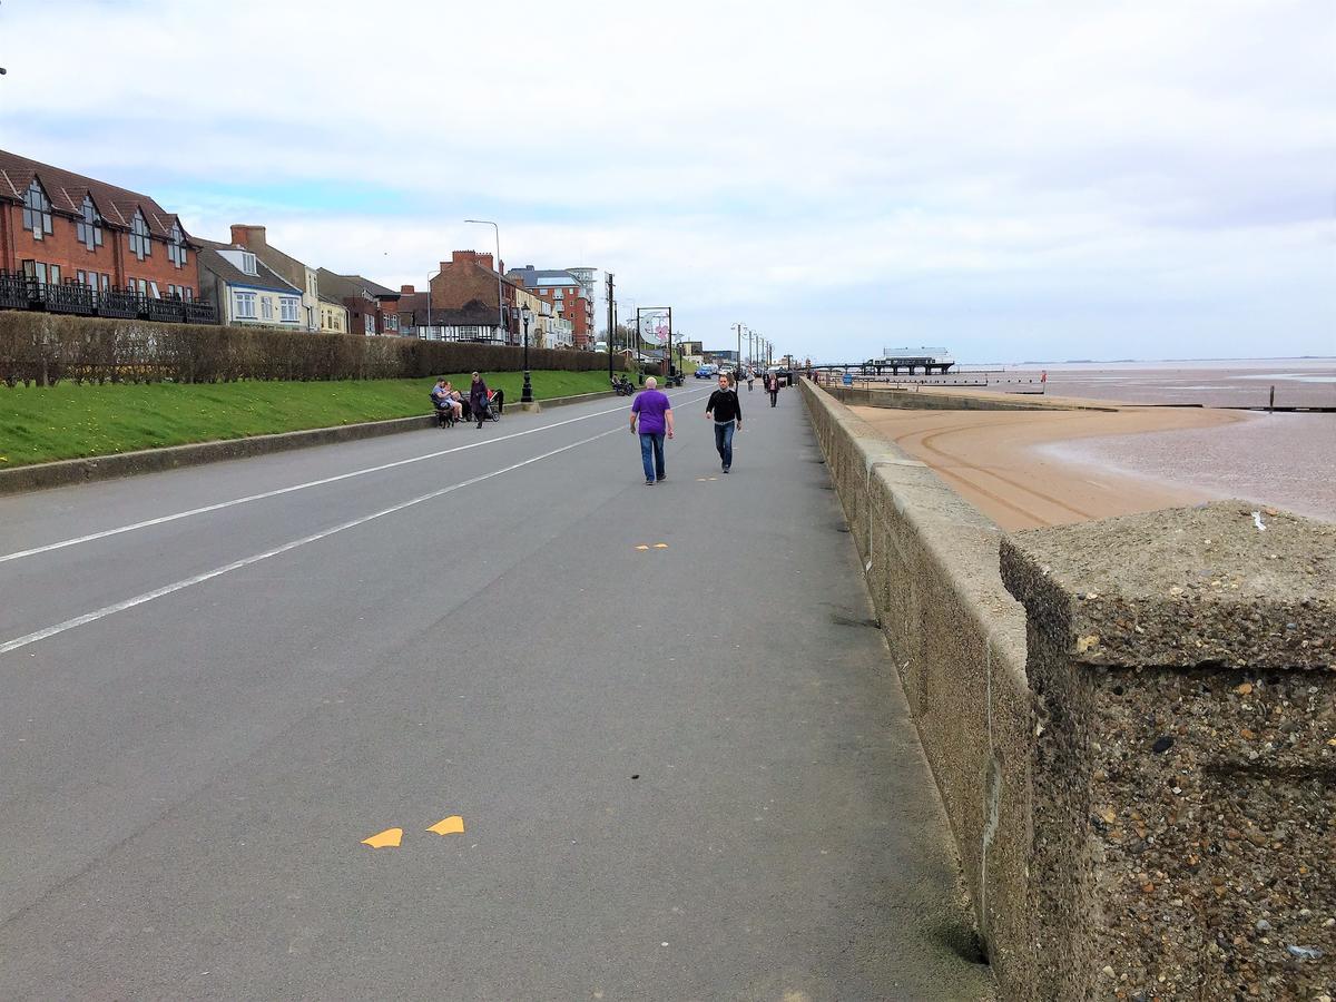
{"label": "tan sand and wet silvery flat just beyond the sea wall", "polygon": [[[1329,482],[1336,469],[1336,422],[1329,415],[1114,407],[854,411],[1005,529],[1217,497],[1336,520]],[[1312,422],[1297,438],[1295,418]]]}

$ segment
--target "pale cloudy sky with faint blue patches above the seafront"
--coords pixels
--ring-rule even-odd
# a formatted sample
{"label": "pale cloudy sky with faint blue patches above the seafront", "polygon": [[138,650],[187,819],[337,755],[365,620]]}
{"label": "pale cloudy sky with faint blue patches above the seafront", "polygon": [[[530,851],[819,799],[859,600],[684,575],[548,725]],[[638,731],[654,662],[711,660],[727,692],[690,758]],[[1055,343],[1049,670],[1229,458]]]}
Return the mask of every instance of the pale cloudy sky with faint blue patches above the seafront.
{"label": "pale cloudy sky with faint blue patches above the seafront", "polygon": [[0,148],[395,289],[494,219],[707,347],[1336,355],[1331,0],[3,0],[0,67]]}

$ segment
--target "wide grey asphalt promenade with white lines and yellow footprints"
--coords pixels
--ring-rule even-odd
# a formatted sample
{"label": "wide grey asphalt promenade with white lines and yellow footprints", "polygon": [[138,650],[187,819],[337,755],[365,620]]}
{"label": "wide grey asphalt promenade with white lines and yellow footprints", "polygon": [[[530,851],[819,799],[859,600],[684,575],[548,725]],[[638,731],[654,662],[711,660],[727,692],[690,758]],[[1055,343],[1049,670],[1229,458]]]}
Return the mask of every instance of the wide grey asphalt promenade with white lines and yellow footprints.
{"label": "wide grey asphalt promenade with white lines and yellow footprints", "polygon": [[798,394],[725,477],[707,389],[653,488],[607,399],[0,498],[0,998],[985,995]]}

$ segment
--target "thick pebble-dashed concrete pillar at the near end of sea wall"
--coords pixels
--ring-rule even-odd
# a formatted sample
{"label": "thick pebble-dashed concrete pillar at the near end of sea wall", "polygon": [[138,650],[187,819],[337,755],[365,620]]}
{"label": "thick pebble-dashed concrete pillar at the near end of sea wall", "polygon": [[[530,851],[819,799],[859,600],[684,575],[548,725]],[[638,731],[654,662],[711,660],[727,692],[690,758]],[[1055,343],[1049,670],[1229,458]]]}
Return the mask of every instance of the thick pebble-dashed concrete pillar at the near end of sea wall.
{"label": "thick pebble-dashed concrete pillar at the near end of sea wall", "polygon": [[1043,999],[1336,985],[1336,525],[1240,501],[1015,533]]}

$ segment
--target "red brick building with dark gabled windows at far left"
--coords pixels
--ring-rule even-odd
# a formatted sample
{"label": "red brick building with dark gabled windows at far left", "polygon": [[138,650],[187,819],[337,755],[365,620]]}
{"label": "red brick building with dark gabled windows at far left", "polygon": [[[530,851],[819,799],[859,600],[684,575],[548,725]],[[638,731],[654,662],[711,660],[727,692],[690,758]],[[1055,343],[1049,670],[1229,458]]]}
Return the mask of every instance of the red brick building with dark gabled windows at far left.
{"label": "red brick building with dark gabled windows at far left", "polygon": [[180,218],[147,195],[0,150],[0,271],[188,302],[198,250]]}

